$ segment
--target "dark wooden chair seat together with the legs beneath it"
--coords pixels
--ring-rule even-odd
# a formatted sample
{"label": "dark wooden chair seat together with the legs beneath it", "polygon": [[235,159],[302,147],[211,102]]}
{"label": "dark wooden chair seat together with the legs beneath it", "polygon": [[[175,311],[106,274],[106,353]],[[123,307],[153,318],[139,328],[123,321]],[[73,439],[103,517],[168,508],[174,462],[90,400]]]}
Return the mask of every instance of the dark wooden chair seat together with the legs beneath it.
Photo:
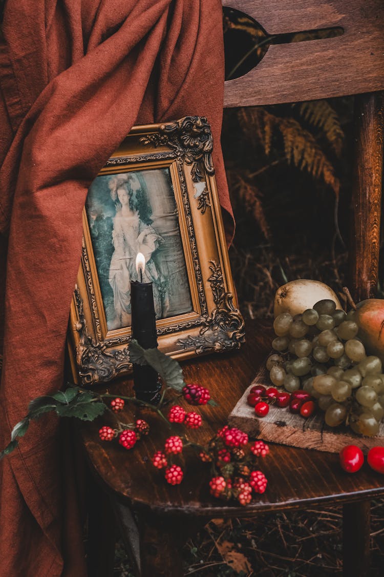
{"label": "dark wooden chair seat together with the legs beneath it", "polygon": [[[227,415],[265,359],[269,348],[269,340],[265,338],[266,333],[270,332],[268,326],[265,322],[249,321],[246,324],[246,344],[240,351],[185,362],[183,369],[187,382],[198,381],[204,384],[210,389],[212,398],[219,402],[218,407],[205,406],[199,409],[204,418],[204,426],[191,432],[191,440],[204,445],[226,424]],[[128,380],[109,385],[108,389],[112,394],[130,395],[131,387],[132,383]],[[135,414],[126,411],[123,416],[127,422],[143,417],[151,426],[150,436],[137,443],[131,451],[125,451],[117,444],[109,445],[100,441],[97,424],[83,426],[82,440],[92,470],[115,503],[120,526],[124,525],[123,518],[129,518],[129,511],[134,511],[136,515],[142,537],[140,557],[142,574],[145,576],[181,575],[180,547],[183,537],[187,539],[193,530],[202,527],[209,519],[249,518],[267,511],[285,511],[324,503],[367,501],[384,494],[382,476],[372,472],[367,465],[358,474],[349,475],[341,470],[337,454],[271,445],[267,458],[260,459],[260,469],[268,478],[267,491],[246,508],[237,505],[235,501],[225,503],[210,496],[210,465],[202,464],[191,454],[188,456],[183,483],[168,485],[164,474],[151,464],[151,456],[164,446],[169,436],[166,424],[148,411],[138,410]],[[203,474],[204,469],[206,473]],[[348,505],[345,505],[345,515],[348,514],[351,515],[351,512]],[[344,573],[349,577],[361,577],[367,571],[367,557],[360,552],[357,554],[356,543],[359,541],[360,548],[362,544],[367,544],[364,519],[367,519],[369,509],[366,503],[360,509],[353,509],[353,515],[358,515],[357,524],[348,538],[356,542],[348,542],[348,564]],[[127,522],[125,524],[127,527]],[[132,523],[130,527],[132,531]],[[165,544],[164,535],[168,535]],[[159,552],[154,546],[157,541],[162,543],[162,549],[168,547],[167,553],[161,555],[160,563]],[[166,565],[166,559],[170,559],[169,565]],[[100,563],[96,565],[100,566]]]}

